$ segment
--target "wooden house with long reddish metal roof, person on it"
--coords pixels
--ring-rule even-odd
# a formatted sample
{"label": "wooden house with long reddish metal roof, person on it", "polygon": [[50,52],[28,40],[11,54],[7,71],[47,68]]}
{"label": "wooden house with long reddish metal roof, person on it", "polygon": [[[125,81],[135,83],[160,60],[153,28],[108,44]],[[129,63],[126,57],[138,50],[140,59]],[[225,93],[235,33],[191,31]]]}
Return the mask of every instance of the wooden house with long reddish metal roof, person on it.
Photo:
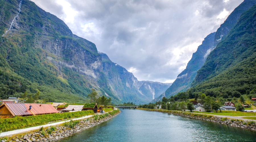
{"label": "wooden house with long reddish metal roof, person on it", "polygon": [[0,118],[51,113],[58,113],[58,111],[51,104],[4,103],[0,106]]}

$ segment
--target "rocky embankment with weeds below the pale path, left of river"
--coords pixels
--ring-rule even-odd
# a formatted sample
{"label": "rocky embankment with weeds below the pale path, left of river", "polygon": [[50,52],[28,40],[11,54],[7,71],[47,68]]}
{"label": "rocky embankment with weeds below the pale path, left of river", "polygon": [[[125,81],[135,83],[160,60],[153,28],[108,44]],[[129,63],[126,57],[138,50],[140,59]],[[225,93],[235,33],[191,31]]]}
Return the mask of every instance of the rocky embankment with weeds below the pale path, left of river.
{"label": "rocky embankment with weeds below the pale path, left of river", "polygon": [[[42,128],[39,131],[34,131],[31,133],[24,133],[13,137],[3,137],[1,142],[6,141],[41,141],[41,142],[48,142],[48,141],[56,141],[58,139],[68,137],[76,132],[85,130],[86,128],[93,127],[97,124],[105,122],[117,114],[119,114],[120,110],[113,110],[112,112],[102,114],[102,115],[94,115],[91,118],[87,118],[84,120],[77,120],[64,123],[63,125],[56,126],[56,127],[49,127],[49,128]],[[1,139],[1,137],[0,137]]]}

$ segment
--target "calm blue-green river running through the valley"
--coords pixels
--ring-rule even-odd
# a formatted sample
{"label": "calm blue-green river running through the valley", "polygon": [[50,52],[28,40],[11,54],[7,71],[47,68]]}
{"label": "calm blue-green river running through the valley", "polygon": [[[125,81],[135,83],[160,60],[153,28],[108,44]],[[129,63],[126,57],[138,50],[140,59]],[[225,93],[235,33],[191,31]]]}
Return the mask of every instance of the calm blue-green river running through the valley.
{"label": "calm blue-green river running through the valley", "polygon": [[121,110],[60,141],[256,141],[256,132],[161,112]]}

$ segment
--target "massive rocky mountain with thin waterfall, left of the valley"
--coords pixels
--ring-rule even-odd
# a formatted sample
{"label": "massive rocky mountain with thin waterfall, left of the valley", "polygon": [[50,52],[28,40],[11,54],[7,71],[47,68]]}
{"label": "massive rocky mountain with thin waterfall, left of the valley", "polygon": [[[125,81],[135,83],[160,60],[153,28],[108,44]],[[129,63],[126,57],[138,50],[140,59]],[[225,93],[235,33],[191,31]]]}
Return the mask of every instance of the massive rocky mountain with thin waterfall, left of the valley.
{"label": "massive rocky mountain with thin waterfall, left of the valley", "polygon": [[0,98],[39,90],[45,101],[84,102],[95,88],[115,104],[139,104],[169,87],[157,82],[142,87],[148,81],[138,81],[94,43],[28,0],[0,0],[0,35]]}

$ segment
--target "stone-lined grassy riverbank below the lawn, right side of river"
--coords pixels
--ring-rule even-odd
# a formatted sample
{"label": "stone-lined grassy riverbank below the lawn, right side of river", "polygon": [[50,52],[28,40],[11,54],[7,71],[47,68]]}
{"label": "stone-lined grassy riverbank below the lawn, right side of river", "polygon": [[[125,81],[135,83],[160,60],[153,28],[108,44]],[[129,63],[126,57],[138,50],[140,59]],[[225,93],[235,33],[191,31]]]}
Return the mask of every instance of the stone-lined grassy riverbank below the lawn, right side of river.
{"label": "stone-lined grassy riverbank below the lawn, right side of river", "polygon": [[226,118],[226,117],[223,118],[223,117],[212,116],[212,115],[208,115],[208,114],[197,114],[197,113],[182,112],[182,111],[175,111],[175,110],[162,110],[162,109],[149,109],[149,108],[136,108],[136,109],[175,114],[175,115],[179,115],[179,116],[185,116],[185,117],[195,118],[195,119],[200,119],[200,120],[207,120],[207,121],[211,121],[211,122],[226,124],[226,125],[233,126],[233,127],[246,128],[246,129],[256,131],[256,123],[254,121],[230,119],[230,118]]}

